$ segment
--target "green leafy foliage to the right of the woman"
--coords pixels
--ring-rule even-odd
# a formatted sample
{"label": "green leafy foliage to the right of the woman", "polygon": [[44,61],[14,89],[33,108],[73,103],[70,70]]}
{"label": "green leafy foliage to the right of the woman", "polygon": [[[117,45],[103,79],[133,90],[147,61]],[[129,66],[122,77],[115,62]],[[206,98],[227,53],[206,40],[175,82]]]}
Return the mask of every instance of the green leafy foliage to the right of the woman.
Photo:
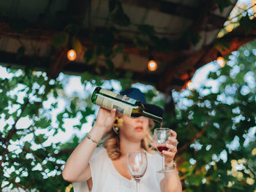
{"label": "green leafy foliage to the right of the woman", "polygon": [[178,133],[177,161],[186,191],[255,190],[255,45],[241,47],[225,67],[208,74],[208,80],[219,82],[217,91],[189,91],[190,104],[176,107],[176,120],[165,114],[165,126]]}

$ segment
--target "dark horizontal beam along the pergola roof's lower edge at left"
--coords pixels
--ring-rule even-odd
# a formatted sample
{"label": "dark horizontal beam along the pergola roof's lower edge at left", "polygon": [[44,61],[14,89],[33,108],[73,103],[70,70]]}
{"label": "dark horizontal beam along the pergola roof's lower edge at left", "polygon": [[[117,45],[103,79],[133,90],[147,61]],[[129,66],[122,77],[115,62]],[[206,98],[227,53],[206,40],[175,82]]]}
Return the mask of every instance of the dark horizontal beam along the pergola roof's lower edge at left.
{"label": "dark horizontal beam along the pergola roof's lower edge at left", "polygon": [[[27,55],[18,59],[15,53],[0,52],[1,66],[12,67],[14,69],[25,69],[26,67],[29,67],[35,70],[48,72],[48,74],[50,74],[50,77],[53,78],[56,78],[56,74],[59,74],[59,72],[76,75],[81,75],[83,74],[83,72],[89,72],[90,74],[98,75],[103,79],[109,79],[108,74],[106,74],[106,72],[108,72],[107,66],[97,66],[99,70],[96,72],[94,65],[78,63],[75,61],[66,61],[65,63],[60,64],[59,61],[52,61],[50,58],[37,58],[37,62],[33,62],[34,59],[35,58],[31,58]],[[57,62],[57,64],[54,64],[54,62]],[[34,66],[28,66],[28,64],[34,64]],[[60,66],[61,69],[57,70],[56,67],[58,66]],[[156,73],[145,74],[144,72],[133,72],[126,69],[114,70],[118,72],[118,75],[116,75],[117,79],[124,78],[127,72],[132,72],[133,82],[142,82],[150,85],[156,85],[159,79],[159,75]]]}

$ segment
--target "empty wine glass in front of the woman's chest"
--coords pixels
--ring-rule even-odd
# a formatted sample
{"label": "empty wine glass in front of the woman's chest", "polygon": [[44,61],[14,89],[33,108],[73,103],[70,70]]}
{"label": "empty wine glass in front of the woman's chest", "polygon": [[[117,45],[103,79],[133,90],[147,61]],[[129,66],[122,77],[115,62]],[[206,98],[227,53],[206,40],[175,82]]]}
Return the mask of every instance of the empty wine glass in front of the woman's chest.
{"label": "empty wine glass in front of the woman's chest", "polygon": [[148,160],[146,152],[135,151],[128,153],[128,169],[129,173],[136,181],[136,191],[140,191],[140,178],[146,172]]}

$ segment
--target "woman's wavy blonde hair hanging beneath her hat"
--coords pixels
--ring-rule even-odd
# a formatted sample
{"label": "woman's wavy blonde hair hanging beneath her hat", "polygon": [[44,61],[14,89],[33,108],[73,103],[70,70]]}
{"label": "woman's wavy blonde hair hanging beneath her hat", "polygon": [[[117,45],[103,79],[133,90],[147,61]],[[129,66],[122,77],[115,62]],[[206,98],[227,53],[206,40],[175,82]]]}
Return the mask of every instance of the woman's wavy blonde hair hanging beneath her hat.
{"label": "woman's wavy blonde hair hanging beneath her hat", "polygon": [[[114,123],[113,126],[120,127],[121,126],[121,118],[116,119],[116,123]],[[149,120],[148,124],[148,134],[146,134],[146,137],[144,137],[141,140],[140,146],[148,151],[149,153],[153,153],[154,150],[150,146],[151,142],[153,142],[152,134],[151,134],[151,128],[154,128],[154,121]],[[113,131],[113,128],[108,131],[105,135],[105,140],[103,142],[103,146],[107,150],[108,157],[111,160],[115,160],[121,156],[121,151],[120,151],[120,142],[119,142],[119,135]]]}

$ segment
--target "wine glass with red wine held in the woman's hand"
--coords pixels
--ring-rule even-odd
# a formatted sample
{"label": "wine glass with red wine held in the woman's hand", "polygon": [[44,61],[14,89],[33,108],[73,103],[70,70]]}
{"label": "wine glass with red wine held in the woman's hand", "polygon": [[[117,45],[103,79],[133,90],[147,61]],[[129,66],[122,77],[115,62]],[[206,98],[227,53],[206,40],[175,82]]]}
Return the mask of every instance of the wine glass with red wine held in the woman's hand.
{"label": "wine glass with red wine held in the woman's hand", "polygon": [[162,156],[162,169],[157,171],[158,173],[170,172],[165,169],[165,156],[162,154],[163,150],[168,150],[166,142],[170,136],[170,128],[155,128],[154,129],[154,142],[157,145],[157,151]]}

